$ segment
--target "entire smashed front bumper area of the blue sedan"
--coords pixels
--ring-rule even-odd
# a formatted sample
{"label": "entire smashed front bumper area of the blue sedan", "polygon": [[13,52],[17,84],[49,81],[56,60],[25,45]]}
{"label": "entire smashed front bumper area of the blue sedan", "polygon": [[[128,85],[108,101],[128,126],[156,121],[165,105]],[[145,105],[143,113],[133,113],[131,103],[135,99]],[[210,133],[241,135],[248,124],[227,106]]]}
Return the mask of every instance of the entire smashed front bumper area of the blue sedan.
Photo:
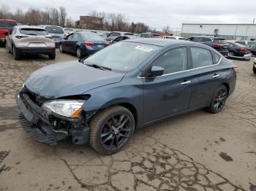
{"label": "entire smashed front bumper area of the blue sedan", "polygon": [[73,144],[86,144],[89,141],[90,129],[86,120],[60,119],[42,109],[23,90],[15,95],[15,99],[20,109],[20,124],[36,141],[49,145],[55,145],[67,138],[71,138]]}

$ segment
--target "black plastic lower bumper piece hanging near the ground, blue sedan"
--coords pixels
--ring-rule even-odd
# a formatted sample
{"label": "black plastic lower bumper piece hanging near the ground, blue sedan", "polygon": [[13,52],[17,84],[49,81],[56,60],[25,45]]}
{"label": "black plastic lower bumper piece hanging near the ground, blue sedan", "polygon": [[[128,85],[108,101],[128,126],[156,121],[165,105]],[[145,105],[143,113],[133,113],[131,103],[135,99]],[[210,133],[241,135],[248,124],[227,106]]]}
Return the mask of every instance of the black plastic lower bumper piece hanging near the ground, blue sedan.
{"label": "black plastic lower bumper piece hanging near the ground, blue sedan", "polygon": [[26,133],[29,133],[31,137],[40,143],[55,145],[58,141],[67,138],[67,133],[55,132],[53,128],[44,124],[39,126],[34,125],[32,122],[26,120],[23,114],[20,114],[19,118],[20,124],[26,130]]}

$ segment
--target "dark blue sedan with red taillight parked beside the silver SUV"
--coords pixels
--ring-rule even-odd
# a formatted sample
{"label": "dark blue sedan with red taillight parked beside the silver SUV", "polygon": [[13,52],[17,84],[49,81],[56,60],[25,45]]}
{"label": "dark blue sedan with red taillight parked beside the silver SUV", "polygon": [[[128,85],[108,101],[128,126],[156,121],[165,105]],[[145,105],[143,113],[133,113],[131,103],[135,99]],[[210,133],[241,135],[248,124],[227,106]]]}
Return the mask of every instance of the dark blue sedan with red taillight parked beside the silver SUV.
{"label": "dark blue sedan with red taillight parked beside the silver SUV", "polygon": [[69,34],[59,45],[60,52],[76,53],[78,58],[91,55],[103,47],[108,46],[108,42],[101,36],[91,32],[76,32]]}

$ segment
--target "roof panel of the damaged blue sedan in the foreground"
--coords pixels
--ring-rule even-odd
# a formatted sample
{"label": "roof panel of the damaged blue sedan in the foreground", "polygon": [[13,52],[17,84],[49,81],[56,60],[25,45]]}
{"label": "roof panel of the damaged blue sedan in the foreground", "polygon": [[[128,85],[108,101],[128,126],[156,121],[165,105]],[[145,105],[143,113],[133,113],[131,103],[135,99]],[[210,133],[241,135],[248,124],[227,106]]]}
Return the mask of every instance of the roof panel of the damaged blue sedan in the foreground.
{"label": "roof panel of the damaged blue sedan in the foreground", "polygon": [[137,43],[141,43],[141,44],[151,44],[151,45],[155,45],[155,46],[159,46],[159,47],[165,47],[165,46],[169,46],[169,45],[189,45],[189,44],[195,44],[195,45],[200,45],[202,47],[205,47],[206,45],[197,43],[197,42],[190,42],[190,41],[181,41],[181,40],[177,40],[177,39],[159,39],[159,38],[136,38],[136,39],[127,39],[126,42],[137,42]]}

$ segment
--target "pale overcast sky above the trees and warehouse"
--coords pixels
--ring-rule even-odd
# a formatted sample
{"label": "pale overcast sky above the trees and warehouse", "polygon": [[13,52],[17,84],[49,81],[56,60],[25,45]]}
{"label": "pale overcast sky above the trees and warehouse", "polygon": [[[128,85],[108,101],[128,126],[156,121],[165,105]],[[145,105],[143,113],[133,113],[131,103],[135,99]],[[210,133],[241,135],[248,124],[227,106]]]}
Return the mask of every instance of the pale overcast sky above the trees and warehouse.
{"label": "pale overcast sky above the trees and warehouse", "polygon": [[0,4],[13,12],[18,7],[26,11],[63,6],[73,20],[92,11],[123,13],[129,22],[157,30],[170,26],[174,31],[181,30],[181,23],[252,23],[256,18],[255,0],[1,0]]}

